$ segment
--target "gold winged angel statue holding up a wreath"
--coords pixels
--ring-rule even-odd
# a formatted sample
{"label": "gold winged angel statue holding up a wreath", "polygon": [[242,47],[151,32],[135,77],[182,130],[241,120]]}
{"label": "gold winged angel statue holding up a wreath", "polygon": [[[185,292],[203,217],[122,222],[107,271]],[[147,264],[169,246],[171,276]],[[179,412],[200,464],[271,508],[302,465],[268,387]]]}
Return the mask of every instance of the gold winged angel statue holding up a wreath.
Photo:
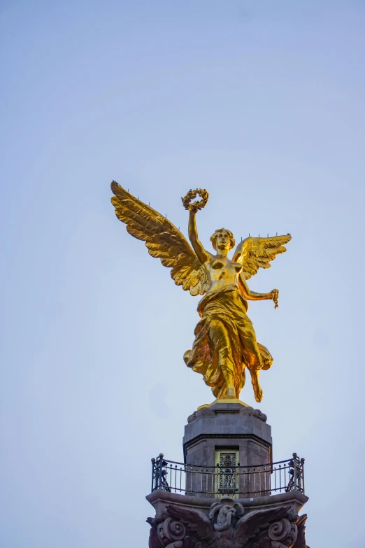
{"label": "gold winged angel statue holding up a wreath", "polygon": [[[183,234],[169,219],[144,204],[113,181],[111,199],[115,214],[127,225],[129,234],[145,241],[148,253],[171,268],[177,286],[191,295],[204,295],[198,304],[201,320],[195,328],[192,350],[185,352],[187,367],[201,373],[217,400],[238,399],[245,384],[245,368],[250,371],[255,400],[261,402],[259,372],[273,363],[268,349],[256,340],[247,316],[248,300],[271,299],[278,306],[277,289],[255,293],[247,280],[258,269],[269,268],[278,253],[284,253],[290,234],[268,238],[248,237],[236,247],[234,235],[221,228],[210,237],[215,253],[201,244],[196,230],[196,213],[208,202],[206,190],[190,190],[183,198],[189,210],[189,246]],[[192,202],[199,195],[201,200]]]}

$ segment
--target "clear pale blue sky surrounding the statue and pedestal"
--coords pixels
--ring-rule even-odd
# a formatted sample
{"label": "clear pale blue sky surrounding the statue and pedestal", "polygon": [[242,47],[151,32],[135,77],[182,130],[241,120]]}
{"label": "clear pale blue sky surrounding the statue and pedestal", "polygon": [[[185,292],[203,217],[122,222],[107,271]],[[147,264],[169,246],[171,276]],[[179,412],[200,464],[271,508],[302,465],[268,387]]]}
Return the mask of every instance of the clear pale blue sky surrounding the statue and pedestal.
{"label": "clear pale blue sky surrounding the statue and pedestal", "polygon": [[0,545],[148,545],[150,458],[210,402],[197,298],[110,181],[206,246],[292,234],[250,281],[274,459],[306,457],[308,544],[363,545],[365,2],[1,2]]}

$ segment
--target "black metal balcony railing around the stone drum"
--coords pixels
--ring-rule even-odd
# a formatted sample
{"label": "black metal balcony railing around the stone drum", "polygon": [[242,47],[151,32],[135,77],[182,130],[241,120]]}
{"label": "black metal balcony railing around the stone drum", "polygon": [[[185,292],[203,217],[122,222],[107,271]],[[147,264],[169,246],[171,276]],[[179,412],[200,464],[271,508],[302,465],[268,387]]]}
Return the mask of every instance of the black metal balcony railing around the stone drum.
{"label": "black metal balcony railing around the stone drum", "polygon": [[277,463],[241,466],[196,466],[168,461],[161,453],[152,458],[151,491],[191,496],[250,498],[299,491],[304,494],[304,458]]}

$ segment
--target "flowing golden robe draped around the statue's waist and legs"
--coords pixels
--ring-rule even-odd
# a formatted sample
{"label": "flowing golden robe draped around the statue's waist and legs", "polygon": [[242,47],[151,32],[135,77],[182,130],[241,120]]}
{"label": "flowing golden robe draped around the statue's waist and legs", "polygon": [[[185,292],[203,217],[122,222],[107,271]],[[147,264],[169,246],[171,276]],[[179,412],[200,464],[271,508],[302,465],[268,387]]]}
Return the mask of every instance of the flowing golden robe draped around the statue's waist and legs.
{"label": "flowing golden robe draped around the statue's waist and legs", "polygon": [[234,377],[236,398],[245,384],[245,367],[267,370],[273,363],[268,349],[256,340],[246,311],[248,304],[237,286],[208,293],[198,305],[192,350],[185,352],[188,367],[201,373],[216,398],[227,396],[224,372]]}

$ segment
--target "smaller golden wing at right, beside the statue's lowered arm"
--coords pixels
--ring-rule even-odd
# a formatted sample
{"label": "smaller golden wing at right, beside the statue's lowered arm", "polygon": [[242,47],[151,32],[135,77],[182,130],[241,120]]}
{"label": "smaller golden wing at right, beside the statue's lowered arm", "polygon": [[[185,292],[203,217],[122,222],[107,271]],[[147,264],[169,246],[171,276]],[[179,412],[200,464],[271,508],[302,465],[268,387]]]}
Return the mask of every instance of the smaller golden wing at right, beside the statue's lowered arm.
{"label": "smaller golden wing at right, beside the statue's lowered arm", "polygon": [[232,260],[241,262],[245,279],[248,280],[257,274],[260,267],[270,268],[270,261],[274,260],[279,253],[287,251],[283,244],[287,244],[291,239],[290,234],[269,238],[250,236],[238,244]]}

